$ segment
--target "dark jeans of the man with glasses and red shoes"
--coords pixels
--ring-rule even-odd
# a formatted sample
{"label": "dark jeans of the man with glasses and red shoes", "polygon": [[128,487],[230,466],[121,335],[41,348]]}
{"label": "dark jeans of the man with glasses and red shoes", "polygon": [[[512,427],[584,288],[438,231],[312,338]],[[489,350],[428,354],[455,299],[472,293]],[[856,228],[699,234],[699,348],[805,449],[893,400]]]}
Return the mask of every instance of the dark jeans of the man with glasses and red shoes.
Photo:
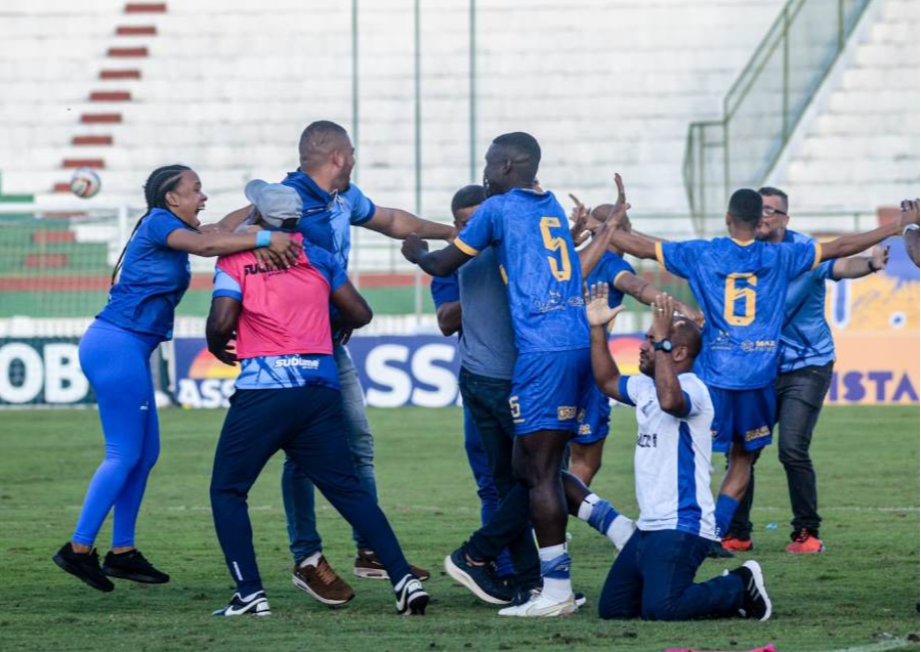
{"label": "dark jeans of the man with glasses and red shoes", "polygon": [[[780,420],[780,462],[787,472],[790,503],[793,506],[793,531],[808,530],[818,536],[822,525],[815,467],[809,457],[812,435],[825,397],[831,387],[834,363],[824,367],[806,367],[777,379],[777,407]],[[751,538],[751,508],[755,496],[755,475],[748,493],[739,505],[730,535]]]}

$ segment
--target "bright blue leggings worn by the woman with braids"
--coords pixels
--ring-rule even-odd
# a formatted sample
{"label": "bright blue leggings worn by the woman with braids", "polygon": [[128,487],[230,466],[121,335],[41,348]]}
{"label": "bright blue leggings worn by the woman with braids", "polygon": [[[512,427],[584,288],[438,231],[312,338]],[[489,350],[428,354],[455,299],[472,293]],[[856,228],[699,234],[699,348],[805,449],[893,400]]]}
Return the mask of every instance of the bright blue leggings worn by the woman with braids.
{"label": "bright blue leggings worn by the woman with braids", "polygon": [[147,478],[160,455],[150,356],[159,340],[96,321],[80,342],[80,364],[99,402],[106,457],[90,482],[73,541],[96,543],[115,508],[113,548],[134,546]]}

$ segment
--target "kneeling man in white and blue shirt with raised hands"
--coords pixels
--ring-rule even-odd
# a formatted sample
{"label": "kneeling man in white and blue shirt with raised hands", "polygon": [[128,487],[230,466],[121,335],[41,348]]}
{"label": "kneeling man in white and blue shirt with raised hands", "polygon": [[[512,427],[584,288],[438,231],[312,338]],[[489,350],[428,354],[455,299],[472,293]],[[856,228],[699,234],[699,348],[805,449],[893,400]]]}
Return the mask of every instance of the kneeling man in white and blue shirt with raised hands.
{"label": "kneeling man in white and blue shirt with raised hands", "polygon": [[606,620],[686,621],[742,615],[766,621],[772,606],[756,562],[707,582],[694,578],[717,540],[710,457],[713,403],[693,373],[700,329],[675,318],[675,301],[653,302],[653,325],[640,351],[642,376],[620,374],[608,349],[607,283],[592,289],[592,367],[606,395],[637,407],[638,531],[617,557],[601,595]]}

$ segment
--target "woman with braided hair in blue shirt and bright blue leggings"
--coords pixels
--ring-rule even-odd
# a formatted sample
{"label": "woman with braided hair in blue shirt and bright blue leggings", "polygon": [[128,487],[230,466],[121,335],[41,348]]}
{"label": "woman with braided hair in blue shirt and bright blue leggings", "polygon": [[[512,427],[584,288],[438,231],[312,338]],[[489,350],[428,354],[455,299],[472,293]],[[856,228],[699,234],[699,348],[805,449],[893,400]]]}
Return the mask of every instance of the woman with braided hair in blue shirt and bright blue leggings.
{"label": "woman with braided hair in blue shirt and bright blue leggings", "polygon": [[[266,248],[284,267],[300,251],[283,233],[232,234],[201,227],[198,215],[208,198],[198,175],[185,166],[155,170],[144,194],[147,213],[115,267],[109,303],[80,342],[80,364],[99,401],[106,456],[90,483],[71,542],[54,557],[64,571],[103,592],[115,588],[109,578],[169,581],[135,548],[135,525],[160,454],[150,357],[161,342],[172,339],[176,306],[191,282],[189,254],[213,257]],[[94,545],[113,508],[112,551],[100,567]]]}

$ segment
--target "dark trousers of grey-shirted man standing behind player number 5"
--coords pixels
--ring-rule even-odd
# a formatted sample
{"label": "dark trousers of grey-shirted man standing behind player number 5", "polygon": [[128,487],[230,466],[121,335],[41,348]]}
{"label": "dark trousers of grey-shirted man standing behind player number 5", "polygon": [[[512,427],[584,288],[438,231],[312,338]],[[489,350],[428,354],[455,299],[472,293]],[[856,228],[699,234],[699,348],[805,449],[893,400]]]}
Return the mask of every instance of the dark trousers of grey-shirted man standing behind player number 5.
{"label": "dark trousers of grey-shirted man standing behind player number 5", "polygon": [[[497,548],[484,546],[485,550],[477,550],[473,543],[480,539],[480,532],[471,540],[473,549],[471,553],[481,560],[496,560],[505,549],[505,540],[511,541],[508,551],[512,555],[512,564],[519,584],[532,585],[540,582],[540,556],[534,543],[534,536],[530,527],[530,502],[526,501],[524,507],[525,527],[521,524],[521,514],[515,510],[505,508],[505,501],[518,484],[512,468],[512,453],[515,447],[515,424],[512,420],[511,408],[508,399],[511,396],[512,384],[509,381],[486,378],[461,369],[460,390],[464,397],[464,405],[480,431],[480,440],[486,456],[489,458],[490,470],[493,481],[503,502],[493,520],[484,529],[499,529],[499,534],[494,540],[502,540]],[[525,490],[527,493],[527,490]],[[515,502],[517,505],[518,503]],[[507,521],[503,514],[514,513],[514,518]],[[509,534],[511,533],[511,534]]]}

